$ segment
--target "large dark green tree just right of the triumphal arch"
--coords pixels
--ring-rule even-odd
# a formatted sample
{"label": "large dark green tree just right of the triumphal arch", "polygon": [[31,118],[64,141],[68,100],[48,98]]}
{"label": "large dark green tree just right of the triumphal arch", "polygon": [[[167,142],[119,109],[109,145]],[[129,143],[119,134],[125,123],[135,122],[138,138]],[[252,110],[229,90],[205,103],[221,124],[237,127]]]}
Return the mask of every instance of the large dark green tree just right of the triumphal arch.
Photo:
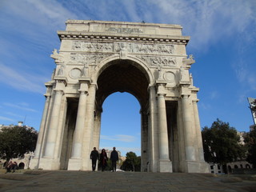
{"label": "large dark green tree just right of the triumphal arch", "polygon": [[245,147],[229,123],[217,119],[212,126],[202,129],[202,143],[206,162],[218,163],[226,172],[226,163],[245,158]]}

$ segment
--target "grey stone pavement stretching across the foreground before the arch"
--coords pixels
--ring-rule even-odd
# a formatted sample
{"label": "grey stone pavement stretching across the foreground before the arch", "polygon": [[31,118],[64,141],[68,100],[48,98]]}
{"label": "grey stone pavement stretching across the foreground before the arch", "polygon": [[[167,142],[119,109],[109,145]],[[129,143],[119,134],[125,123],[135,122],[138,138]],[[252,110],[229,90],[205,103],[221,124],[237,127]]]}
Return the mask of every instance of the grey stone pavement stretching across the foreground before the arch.
{"label": "grey stone pavement stretching across the foreground before the arch", "polygon": [[0,174],[6,192],[253,192],[255,175],[29,170]]}

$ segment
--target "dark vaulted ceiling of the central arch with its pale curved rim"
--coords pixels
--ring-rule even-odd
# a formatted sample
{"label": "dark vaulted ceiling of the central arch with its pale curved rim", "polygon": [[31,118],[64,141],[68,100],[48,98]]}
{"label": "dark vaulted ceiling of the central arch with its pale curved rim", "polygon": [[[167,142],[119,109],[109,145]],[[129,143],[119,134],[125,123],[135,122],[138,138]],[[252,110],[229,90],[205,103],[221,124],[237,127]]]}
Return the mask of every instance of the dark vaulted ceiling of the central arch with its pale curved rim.
{"label": "dark vaulted ceiling of the central arch with its pale curved rim", "polygon": [[[107,61],[103,62],[102,65],[98,66],[94,77],[94,79],[97,77],[97,93],[101,92],[103,83],[109,82],[110,80],[111,82],[107,84],[112,85],[109,88],[103,88],[102,92],[105,92],[106,95],[104,95],[100,101],[97,101],[100,106],[108,95],[117,91],[133,94],[134,97],[138,99],[138,102],[141,104],[142,108],[146,105],[146,103],[143,102],[146,102],[148,98],[146,98],[146,95],[142,96],[141,90],[143,90],[144,94],[146,94],[148,86],[153,83],[153,75],[150,73],[150,71],[147,71],[147,67],[143,64],[143,62],[138,63],[138,61],[134,62],[134,60],[135,59],[122,60],[114,57],[112,59],[108,59]],[[126,77],[122,77],[123,75]],[[104,78],[103,83],[102,78]],[[121,85],[121,83],[118,81],[123,78],[126,78],[126,80],[122,81]],[[137,81],[135,80],[136,78],[138,79]],[[115,81],[114,79],[118,80]],[[133,80],[133,82],[131,82],[131,80]],[[128,85],[129,83],[131,83],[131,86]],[[138,86],[143,87],[143,89],[140,90]],[[96,97],[98,96],[99,95],[96,94]],[[144,101],[142,101],[143,99]]]}

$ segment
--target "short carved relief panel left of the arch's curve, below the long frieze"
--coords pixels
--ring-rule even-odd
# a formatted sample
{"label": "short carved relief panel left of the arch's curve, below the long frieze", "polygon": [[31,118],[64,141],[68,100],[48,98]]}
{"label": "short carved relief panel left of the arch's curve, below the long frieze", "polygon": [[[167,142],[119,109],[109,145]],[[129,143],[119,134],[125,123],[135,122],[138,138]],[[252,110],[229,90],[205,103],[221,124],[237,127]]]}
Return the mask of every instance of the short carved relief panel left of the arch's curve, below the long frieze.
{"label": "short carved relief panel left of the arch's curve, below the long frieze", "polygon": [[110,54],[70,54],[70,64],[96,65]]}

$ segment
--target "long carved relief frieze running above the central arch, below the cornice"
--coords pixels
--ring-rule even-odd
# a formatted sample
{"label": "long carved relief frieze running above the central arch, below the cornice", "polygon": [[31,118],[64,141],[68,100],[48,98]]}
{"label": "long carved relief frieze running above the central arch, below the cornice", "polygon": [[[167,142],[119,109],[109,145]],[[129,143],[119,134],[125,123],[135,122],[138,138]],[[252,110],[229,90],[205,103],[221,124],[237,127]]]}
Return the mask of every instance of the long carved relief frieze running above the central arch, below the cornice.
{"label": "long carved relief frieze running above the central arch, below the cornice", "polygon": [[173,54],[174,45],[135,42],[81,42],[74,41],[72,50],[85,52],[120,52],[131,54]]}

